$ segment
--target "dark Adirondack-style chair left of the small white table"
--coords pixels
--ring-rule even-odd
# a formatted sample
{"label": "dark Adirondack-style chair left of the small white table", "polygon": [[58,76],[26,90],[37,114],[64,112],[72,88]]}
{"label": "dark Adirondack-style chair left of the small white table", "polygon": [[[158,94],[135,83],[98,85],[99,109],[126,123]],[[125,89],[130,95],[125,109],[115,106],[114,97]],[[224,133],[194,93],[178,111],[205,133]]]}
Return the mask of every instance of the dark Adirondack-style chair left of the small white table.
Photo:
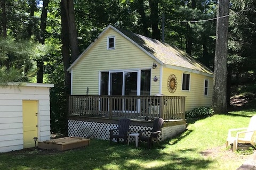
{"label": "dark Adirondack-style chair left of the small white table", "polygon": [[128,118],[121,118],[118,121],[118,129],[112,129],[109,131],[110,133],[110,144],[112,143],[112,139],[116,138],[117,143],[119,143],[119,139],[123,138],[124,142],[127,143],[127,133],[130,131],[131,120]]}

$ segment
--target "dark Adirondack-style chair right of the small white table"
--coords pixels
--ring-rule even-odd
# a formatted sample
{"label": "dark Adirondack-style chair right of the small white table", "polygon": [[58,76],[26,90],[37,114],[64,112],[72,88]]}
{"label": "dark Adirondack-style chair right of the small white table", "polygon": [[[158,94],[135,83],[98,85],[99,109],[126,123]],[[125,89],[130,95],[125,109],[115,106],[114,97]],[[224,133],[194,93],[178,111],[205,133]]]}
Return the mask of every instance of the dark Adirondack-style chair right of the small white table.
{"label": "dark Adirondack-style chair right of the small white table", "polygon": [[[148,142],[148,149],[151,148],[153,142],[156,141],[159,145],[158,141],[158,134],[161,132],[161,128],[163,126],[164,120],[162,118],[156,118],[153,122],[153,129],[152,130],[144,130],[140,131],[139,141],[146,141]],[[149,132],[150,135],[145,135],[146,132]],[[146,133],[148,134],[148,133]]]}

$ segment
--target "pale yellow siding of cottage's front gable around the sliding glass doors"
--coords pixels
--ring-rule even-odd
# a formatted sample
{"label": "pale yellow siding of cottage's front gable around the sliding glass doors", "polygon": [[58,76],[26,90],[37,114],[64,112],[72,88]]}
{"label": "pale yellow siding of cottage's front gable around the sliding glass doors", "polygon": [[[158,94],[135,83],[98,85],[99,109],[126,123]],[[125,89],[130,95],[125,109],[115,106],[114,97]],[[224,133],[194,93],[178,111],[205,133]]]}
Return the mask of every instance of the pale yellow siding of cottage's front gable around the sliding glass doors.
{"label": "pale yellow siding of cottage's front gable around the sliding glass doors", "polygon": [[[107,50],[107,37],[115,36],[115,49]],[[151,69],[153,58],[113,29],[107,30],[73,67],[73,95],[99,94],[99,71]],[[151,71],[151,94],[159,93],[160,66]]]}

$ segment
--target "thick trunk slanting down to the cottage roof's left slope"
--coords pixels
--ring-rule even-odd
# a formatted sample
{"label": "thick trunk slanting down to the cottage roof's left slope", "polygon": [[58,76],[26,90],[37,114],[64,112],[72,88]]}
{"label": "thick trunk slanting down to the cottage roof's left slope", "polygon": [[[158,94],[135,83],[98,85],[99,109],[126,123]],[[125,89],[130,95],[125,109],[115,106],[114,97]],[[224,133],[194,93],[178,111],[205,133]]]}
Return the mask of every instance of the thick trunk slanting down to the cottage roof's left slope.
{"label": "thick trunk slanting down to the cottage roof's left slope", "polygon": [[64,5],[66,18],[68,21],[69,43],[71,47],[71,62],[73,63],[76,60],[76,58],[79,56],[77,30],[76,30],[75,13],[74,13],[74,1],[62,0],[61,2]]}

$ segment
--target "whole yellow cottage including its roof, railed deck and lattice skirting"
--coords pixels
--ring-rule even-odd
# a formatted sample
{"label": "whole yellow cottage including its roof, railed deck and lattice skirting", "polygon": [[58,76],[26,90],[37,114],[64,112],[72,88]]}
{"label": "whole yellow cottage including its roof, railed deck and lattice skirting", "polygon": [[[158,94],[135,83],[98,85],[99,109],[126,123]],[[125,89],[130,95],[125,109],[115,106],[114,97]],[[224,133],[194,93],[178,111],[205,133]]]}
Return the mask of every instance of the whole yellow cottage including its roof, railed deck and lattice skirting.
{"label": "whole yellow cottage including its roof, railed deck and lattice skirting", "polygon": [[186,129],[185,111],[211,106],[210,69],[177,47],[112,25],[68,71],[70,136],[108,139],[123,117],[137,133],[161,117],[165,139]]}

